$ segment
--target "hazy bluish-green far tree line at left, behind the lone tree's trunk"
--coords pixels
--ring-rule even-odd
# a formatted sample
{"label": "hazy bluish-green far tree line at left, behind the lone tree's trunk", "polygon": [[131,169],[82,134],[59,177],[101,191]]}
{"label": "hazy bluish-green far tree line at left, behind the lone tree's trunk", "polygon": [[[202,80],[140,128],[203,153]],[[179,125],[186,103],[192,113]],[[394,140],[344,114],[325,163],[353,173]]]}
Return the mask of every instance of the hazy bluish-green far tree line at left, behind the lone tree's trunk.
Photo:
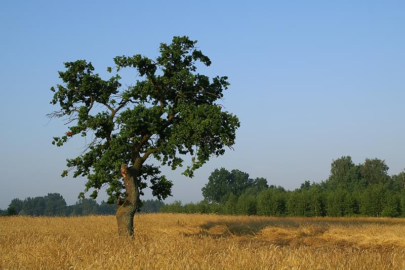
{"label": "hazy bluish-green far tree line at left, behind the lone tree's trunk", "polygon": [[[140,212],[158,212],[163,202],[158,200],[142,201]],[[27,216],[85,216],[85,215],[113,215],[117,209],[116,204],[102,201],[100,204],[94,199],[79,199],[74,205],[66,205],[65,199],[58,193],[49,193],[47,196],[13,199],[6,210],[0,209],[0,215],[27,215]]]}

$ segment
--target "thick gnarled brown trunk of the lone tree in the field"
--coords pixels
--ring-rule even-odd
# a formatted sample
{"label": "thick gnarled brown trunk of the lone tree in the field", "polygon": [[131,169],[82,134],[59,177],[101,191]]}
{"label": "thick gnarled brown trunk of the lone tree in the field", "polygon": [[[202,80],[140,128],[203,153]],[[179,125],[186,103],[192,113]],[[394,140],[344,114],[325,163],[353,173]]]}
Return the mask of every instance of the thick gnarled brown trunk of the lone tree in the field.
{"label": "thick gnarled brown trunk of the lone tree in the field", "polygon": [[121,165],[121,175],[124,178],[126,198],[124,203],[118,200],[118,209],[115,212],[118,235],[120,236],[132,237],[134,235],[134,215],[139,206],[138,174],[139,170],[128,168],[127,164]]}

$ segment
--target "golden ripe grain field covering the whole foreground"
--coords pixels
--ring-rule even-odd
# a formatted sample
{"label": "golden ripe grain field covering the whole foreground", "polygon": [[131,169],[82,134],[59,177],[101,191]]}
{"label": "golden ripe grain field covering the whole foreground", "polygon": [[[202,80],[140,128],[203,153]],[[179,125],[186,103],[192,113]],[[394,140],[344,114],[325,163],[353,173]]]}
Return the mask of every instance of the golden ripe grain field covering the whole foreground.
{"label": "golden ripe grain field covering the whole foreground", "polygon": [[405,220],[142,214],[0,217],[0,269],[405,269]]}

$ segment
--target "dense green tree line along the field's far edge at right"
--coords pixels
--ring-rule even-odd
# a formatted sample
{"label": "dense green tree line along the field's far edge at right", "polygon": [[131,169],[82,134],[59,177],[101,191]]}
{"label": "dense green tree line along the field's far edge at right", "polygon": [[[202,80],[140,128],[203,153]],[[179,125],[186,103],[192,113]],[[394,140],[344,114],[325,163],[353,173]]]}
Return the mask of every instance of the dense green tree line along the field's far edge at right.
{"label": "dense green tree line along the field's far edge at right", "polygon": [[219,213],[267,216],[387,216],[405,217],[405,171],[389,176],[379,159],[354,164],[351,157],[334,160],[330,177],[305,181],[286,190],[268,186],[265,178],[224,168],[211,173],[203,187],[204,200],[164,205],[162,212]]}

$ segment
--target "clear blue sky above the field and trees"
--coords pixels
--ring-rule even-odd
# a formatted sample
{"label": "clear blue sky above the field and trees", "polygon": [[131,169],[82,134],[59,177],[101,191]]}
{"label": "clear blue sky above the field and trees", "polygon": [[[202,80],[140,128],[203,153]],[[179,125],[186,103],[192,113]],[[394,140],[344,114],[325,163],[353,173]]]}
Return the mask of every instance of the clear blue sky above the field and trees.
{"label": "clear blue sky above the field and trees", "polygon": [[4,1],[0,33],[3,209],[48,192],[74,204],[83,190],[85,179],[60,174],[84,141],[53,146],[66,126],[46,125],[62,63],[86,59],[104,75],[113,57],[154,57],[174,35],[198,40],[213,62],[204,73],[229,76],[223,104],[241,127],[235,150],[193,179],[163,170],[167,202],[201,200],[220,167],[289,189],[325,180],[341,156],[405,167],[403,1]]}

